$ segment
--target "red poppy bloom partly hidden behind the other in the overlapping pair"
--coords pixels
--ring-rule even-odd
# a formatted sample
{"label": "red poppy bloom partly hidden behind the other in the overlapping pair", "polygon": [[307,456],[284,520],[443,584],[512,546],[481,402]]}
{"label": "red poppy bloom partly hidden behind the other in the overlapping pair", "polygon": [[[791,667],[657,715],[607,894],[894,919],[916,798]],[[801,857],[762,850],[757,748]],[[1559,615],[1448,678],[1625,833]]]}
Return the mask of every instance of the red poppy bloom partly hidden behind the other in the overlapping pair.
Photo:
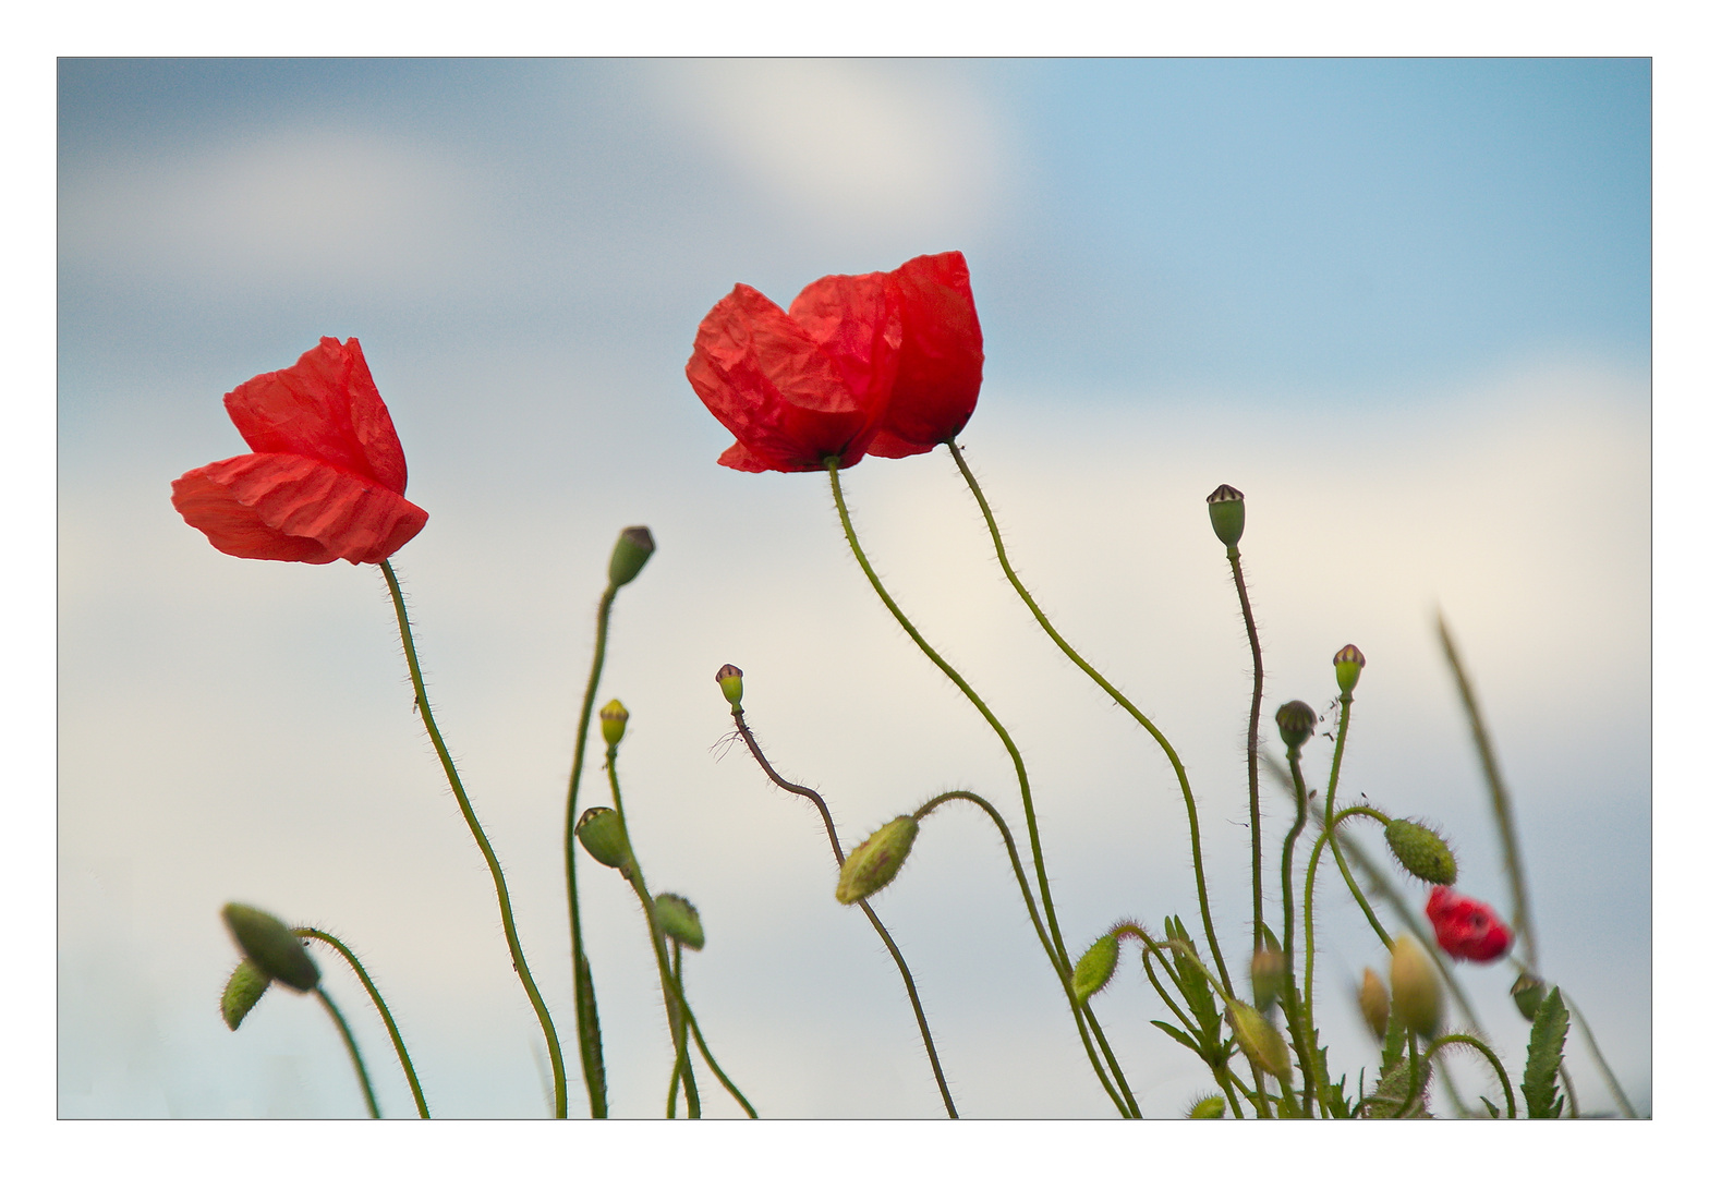
{"label": "red poppy bloom partly hidden behind the other in the overlapping pair", "polygon": [[902,311],[902,357],[890,408],[866,453],[906,458],[950,441],[972,417],[984,337],[959,251],[914,258],[890,277]]}

